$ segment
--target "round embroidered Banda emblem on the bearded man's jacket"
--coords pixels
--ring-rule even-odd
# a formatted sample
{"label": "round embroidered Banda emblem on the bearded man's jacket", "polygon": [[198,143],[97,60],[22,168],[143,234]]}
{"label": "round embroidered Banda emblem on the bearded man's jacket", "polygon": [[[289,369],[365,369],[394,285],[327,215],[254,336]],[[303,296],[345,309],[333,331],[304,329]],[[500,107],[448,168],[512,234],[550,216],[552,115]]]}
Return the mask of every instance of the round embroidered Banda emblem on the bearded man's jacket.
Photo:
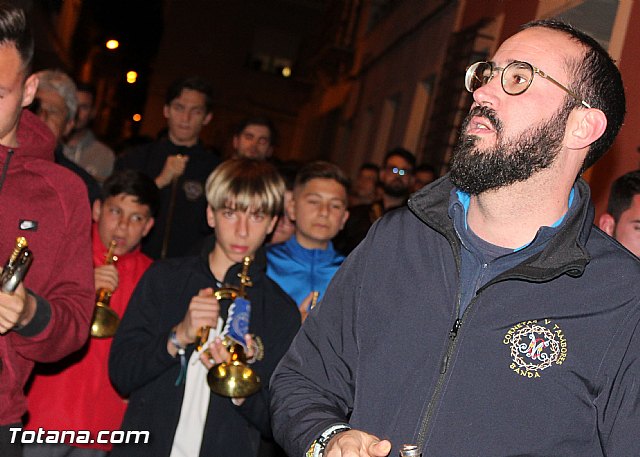
{"label": "round embroidered Banda emblem on the bearded man's jacket", "polygon": [[511,350],[509,368],[526,378],[540,378],[543,370],[567,359],[564,332],[551,319],[520,322],[509,329],[502,342]]}

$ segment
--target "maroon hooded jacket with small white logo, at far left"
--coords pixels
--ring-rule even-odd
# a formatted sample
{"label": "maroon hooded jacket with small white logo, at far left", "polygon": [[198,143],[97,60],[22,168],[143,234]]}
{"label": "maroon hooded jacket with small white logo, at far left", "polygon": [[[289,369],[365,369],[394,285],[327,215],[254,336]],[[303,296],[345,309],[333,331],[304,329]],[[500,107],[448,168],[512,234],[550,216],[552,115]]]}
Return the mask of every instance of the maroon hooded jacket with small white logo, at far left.
{"label": "maroon hooded jacket with small white logo, at far left", "polygon": [[33,264],[24,284],[38,308],[29,325],[0,335],[0,425],[25,413],[34,362],[59,360],[84,344],[94,300],[86,188],[53,163],[55,140],[35,115],[23,111],[17,135],[17,148],[0,145],[0,262],[16,237],[27,238]]}

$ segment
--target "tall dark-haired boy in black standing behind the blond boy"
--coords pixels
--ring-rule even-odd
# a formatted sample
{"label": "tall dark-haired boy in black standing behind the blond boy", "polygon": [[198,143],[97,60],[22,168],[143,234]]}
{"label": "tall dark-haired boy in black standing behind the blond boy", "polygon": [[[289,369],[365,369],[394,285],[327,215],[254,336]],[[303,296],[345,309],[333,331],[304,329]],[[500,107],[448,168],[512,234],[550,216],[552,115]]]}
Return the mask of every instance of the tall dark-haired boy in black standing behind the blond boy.
{"label": "tall dark-haired boy in black standing behind the blond boy", "polygon": [[120,156],[116,170],[138,170],[155,180],[160,209],[154,229],[142,243],[153,259],[186,255],[211,229],[207,226],[204,184],[220,163],[218,155],[200,141],[212,118],[213,89],[199,77],[176,80],[169,86],[163,108],[167,136]]}

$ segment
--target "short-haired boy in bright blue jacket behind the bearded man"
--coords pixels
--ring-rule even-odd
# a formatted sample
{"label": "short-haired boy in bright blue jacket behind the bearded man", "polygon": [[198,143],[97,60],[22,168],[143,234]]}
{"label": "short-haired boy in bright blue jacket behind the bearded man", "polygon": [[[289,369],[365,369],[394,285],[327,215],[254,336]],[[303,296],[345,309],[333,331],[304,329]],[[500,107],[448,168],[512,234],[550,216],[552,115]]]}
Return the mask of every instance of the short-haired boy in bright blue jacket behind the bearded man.
{"label": "short-haired boy in bright blue jacket behind the bearded man", "polygon": [[267,274],[298,304],[303,320],[344,260],[331,239],[349,218],[348,189],[349,180],[334,164],[302,167],[287,208],[294,236],[267,251]]}

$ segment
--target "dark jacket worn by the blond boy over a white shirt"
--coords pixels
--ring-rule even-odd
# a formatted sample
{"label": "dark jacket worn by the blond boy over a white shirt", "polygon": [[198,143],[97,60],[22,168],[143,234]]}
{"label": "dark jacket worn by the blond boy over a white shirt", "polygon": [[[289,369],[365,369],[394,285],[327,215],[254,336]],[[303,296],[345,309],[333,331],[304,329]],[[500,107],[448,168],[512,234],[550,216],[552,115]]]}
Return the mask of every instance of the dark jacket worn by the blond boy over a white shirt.
{"label": "dark jacket worn by the blond boy over a white shirt", "polygon": [[[238,285],[240,264],[227,272],[225,282]],[[264,256],[257,255],[247,288],[251,301],[249,332],[264,343],[264,359],[252,367],[263,388],[235,406],[211,394],[200,455],[254,456],[260,434],[270,436],[268,380],[298,327],[300,314],[293,301],[264,272]],[[180,362],[167,353],[167,340],[198,291],[215,287],[207,254],[153,264],[134,291],[111,346],[109,374],[116,389],[129,396],[123,430],[149,430],[150,444],[116,446],[113,457],[168,456],[180,416],[184,384],[175,386]],[[228,306],[228,303],[226,304]],[[226,309],[221,303],[221,315]],[[187,360],[194,350],[190,345]]]}

